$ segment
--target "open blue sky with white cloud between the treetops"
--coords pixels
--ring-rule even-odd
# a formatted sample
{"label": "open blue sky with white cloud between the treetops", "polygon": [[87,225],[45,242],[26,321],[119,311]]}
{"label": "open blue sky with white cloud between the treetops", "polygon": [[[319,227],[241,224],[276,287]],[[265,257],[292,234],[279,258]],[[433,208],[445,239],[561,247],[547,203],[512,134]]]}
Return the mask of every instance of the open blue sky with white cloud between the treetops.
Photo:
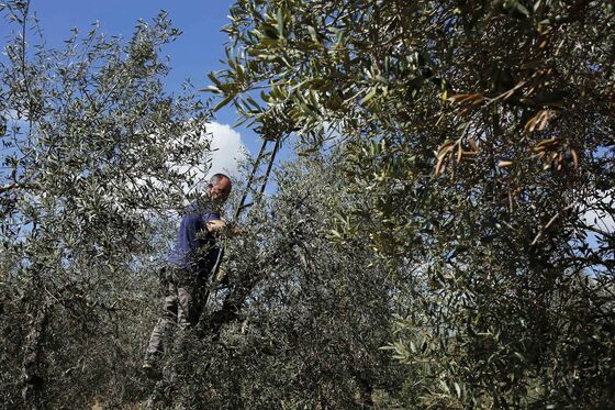
{"label": "open blue sky with white cloud between the treetops", "polygon": [[[166,10],[174,26],[182,31],[182,35],[164,54],[171,60],[172,70],[166,79],[169,91],[179,91],[181,84],[190,79],[195,88],[210,85],[206,74],[223,68],[220,59],[224,57],[224,44],[227,41],[221,29],[227,23],[227,11],[232,1],[223,0],[31,0],[31,10],[36,13],[47,44],[60,47],[63,41],[70,36],[70,29],[78,27],[87,33],[96,21],[100,31],[108,35],[123,35],[130,38],[138,19],[149,21],[160,10]],[[8,24],[0,24],[2,40],[8,34]],[[3,42],[2,42],[3,43]],[[206,98],[209,95],[203,95]],[[236,121],[235,110],[225,107],[216,113],[215,121],[221,124],[233,124]],[[225,126],[212,128],[223,134],[216,135],[222,143],[219,157],[225,156],[225,148],[234,147],[239,137]],[[260,141],[250,130],[239,128],[241,143],[255,154]],[[214,158],[215,162],[215,158]],[[215,164],[214,164],[215,166]]]}

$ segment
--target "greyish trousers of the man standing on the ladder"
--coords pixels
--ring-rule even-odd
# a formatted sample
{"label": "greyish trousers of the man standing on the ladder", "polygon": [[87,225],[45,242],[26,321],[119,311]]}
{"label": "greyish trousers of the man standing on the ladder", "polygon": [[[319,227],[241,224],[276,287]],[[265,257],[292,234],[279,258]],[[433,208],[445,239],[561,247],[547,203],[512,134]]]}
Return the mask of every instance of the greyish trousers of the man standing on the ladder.
{"label": "greyish trousers of the man standing on the ladder", "polygon": [[152,331],[146,361],[164,352],[176,325],[180,330],[197,325],[209,295],[205,279],[178,267],[165,268],[164,290],[163,314]]}

